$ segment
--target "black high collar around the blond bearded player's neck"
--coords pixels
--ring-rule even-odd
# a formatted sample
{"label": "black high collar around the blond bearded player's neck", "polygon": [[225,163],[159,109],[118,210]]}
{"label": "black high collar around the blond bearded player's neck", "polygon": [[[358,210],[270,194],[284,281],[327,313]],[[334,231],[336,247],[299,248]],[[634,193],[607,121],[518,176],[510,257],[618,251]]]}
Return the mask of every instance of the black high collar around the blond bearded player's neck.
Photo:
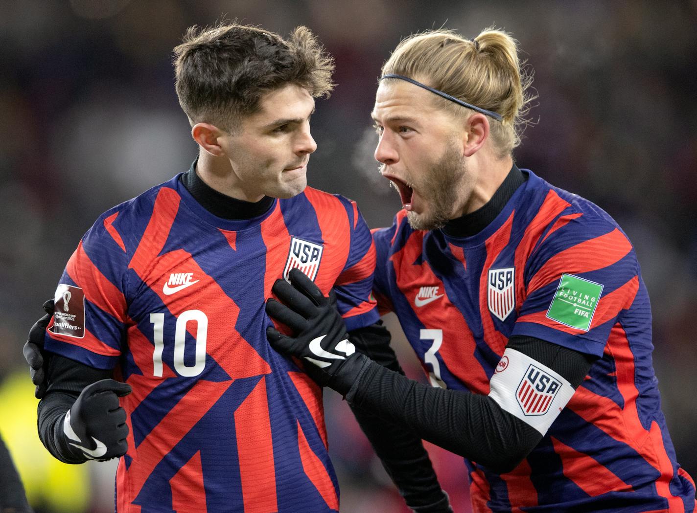
{"label": "black high collar around the blond bearded player's neck", "polygon": [[475,212],[453,219],[440,231],[456,246],[483,244],[510,217],[518,198],[530,187],[533,177],[535,175],[529,170],[519,169],[514,164],[489,203]]}

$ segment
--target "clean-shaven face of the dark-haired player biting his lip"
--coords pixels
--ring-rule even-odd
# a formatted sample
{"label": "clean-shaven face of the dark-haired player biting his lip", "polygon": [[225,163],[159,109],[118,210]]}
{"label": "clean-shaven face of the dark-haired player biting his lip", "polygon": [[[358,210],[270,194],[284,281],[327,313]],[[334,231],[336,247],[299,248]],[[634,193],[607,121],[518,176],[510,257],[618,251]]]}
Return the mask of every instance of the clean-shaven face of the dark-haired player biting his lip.
{"label": "clean-shaven face of the dark-haired player biting his lip", "polygon": [[261,97],[259,112],[247,116],[236,135],[222,137],[239,198],[291,198],[307,185],[307,161],[317,145],[309,132],[314,99],[296,84]]}

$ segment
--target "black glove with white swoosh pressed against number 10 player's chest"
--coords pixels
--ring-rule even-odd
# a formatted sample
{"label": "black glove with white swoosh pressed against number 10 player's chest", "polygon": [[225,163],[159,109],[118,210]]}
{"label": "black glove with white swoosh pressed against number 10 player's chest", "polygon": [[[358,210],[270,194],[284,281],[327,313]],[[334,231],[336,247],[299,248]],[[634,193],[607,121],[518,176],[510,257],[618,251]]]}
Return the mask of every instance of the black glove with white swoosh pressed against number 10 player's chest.
{"label": "black glove with white swoosh pressed against number 10 player's chest", "polygon": [[312,363],[314,369],[308,373],[320,385],[345,394],[353,383],[351,377],[360,371],[367,358],[355,352],[348,341],[344,319],[332,298],[333,291],[330,297],[324,297],[299,269],[292,269],[288,276],[291,283],[277,280],[271,289],[285,305],[269,299],[266,313],[293,330],[295,337],[285,336],[269,326],[266,338],[277,351]]}

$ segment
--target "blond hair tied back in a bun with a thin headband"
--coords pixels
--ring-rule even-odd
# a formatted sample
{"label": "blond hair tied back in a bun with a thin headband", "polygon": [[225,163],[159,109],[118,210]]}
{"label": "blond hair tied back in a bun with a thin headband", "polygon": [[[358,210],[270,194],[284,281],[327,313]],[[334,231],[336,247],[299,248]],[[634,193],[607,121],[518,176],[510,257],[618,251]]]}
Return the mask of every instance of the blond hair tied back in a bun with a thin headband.
{"label": "blond hair tied back in a bun with a thin headband", "polygon": [[[417,33],[402,40],[383,65],[382,74],[401,74],[470,104],[500,114],[491,120],[491,139],[500,157],[520,144],[523,116],[532,75],[518,58],[510,34],[484,29],[474,40],[450,30]],[[434,101],[455,114],[464,107],[434,95]],[[468,109],[468,114],[473,113]]]}

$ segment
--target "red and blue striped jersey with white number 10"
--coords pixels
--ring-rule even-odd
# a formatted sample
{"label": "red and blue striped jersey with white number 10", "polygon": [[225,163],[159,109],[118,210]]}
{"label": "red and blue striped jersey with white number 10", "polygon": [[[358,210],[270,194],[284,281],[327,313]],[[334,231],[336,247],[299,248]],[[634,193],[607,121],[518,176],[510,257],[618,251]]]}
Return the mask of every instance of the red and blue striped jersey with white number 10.
{"label": "red and blue striped jersey with white number 10", "polygon": [[321,388],[266,340],[292,267],[376,322],[375,250],[351,200],[307,188],[220,219],[178,176],[103,214],[68,261],[46,348],[132,386],[118,513],[336,512]]}

